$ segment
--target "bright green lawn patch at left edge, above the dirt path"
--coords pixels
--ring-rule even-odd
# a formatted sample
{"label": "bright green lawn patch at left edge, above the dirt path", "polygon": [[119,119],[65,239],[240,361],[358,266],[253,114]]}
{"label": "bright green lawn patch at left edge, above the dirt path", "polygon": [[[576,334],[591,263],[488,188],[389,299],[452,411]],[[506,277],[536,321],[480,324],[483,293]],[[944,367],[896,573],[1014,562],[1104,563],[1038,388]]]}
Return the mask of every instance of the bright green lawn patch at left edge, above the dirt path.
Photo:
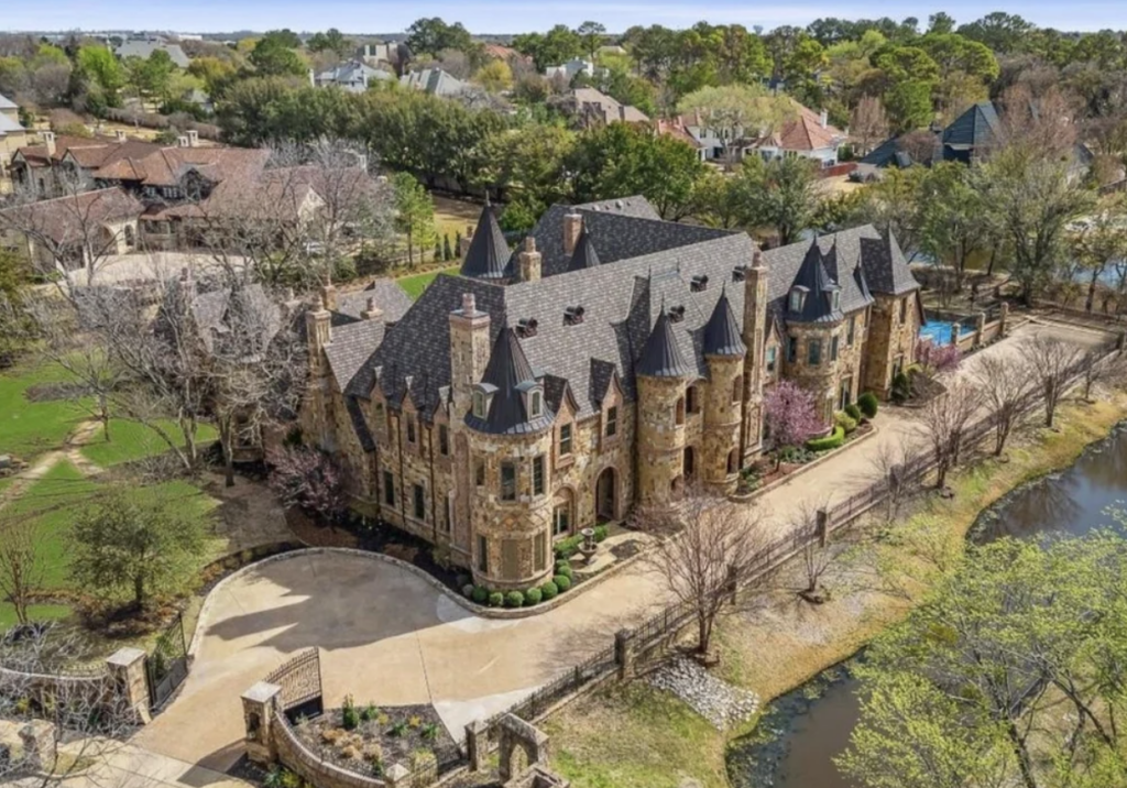
{"label": "bright green lawn patch at left edge, above the dirt path", "polygon": [[61,445],[87,413],[74,402],[32,402],[24,395],[38,383],[68,380],[55,364],[18,365],[0,373],[0,454],[32,461]]}

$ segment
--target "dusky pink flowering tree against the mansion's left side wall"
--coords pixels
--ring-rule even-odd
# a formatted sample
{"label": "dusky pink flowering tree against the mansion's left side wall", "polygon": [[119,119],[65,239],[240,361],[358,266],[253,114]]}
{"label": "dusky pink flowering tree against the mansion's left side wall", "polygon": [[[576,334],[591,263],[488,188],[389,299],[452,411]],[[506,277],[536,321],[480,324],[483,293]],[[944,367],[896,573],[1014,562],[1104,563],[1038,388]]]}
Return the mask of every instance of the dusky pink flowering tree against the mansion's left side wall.
{"label": "dusky pink flowering tree against the mansion's left side wall", "polygon": [[269,452],[266,460],[270,464],[270,489],[283,506],[298,506],[334,525],[344,520],[348,513],[344,476],[328,454],[307,446],[286,446]]}

